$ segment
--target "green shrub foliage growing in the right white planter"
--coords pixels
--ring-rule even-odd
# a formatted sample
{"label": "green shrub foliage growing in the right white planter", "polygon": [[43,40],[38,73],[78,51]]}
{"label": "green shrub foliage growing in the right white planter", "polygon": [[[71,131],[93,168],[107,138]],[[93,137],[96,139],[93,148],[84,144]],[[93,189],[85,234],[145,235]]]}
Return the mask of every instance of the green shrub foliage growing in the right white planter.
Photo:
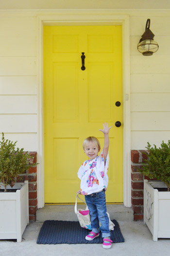
{"label": "green shrub foliage growing in the right white planter", "polygon": [[167,144],[162,141],[158,148],[155,145],[152,147],[149,142],[147,144],[148,159],[139,171],[150,179],[164,182],[170,191],[170,140]]}

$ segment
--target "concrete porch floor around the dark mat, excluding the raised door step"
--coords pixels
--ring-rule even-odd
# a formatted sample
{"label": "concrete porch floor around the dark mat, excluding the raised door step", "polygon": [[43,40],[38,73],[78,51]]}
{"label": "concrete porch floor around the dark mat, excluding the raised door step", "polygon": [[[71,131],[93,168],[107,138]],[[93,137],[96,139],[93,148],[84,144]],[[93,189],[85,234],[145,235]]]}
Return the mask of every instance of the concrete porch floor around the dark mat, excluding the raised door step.
{"label": "concrete porch floor around the dark mat, excluding the raised door step", "polygon": [[0,240],[0,256],[169,256],[170,239],[153,242],[142,221],[118,221],[124,243],[114,243],[104,250],[102,244],[36,244],[43,222],[26,227],[21,243]]}

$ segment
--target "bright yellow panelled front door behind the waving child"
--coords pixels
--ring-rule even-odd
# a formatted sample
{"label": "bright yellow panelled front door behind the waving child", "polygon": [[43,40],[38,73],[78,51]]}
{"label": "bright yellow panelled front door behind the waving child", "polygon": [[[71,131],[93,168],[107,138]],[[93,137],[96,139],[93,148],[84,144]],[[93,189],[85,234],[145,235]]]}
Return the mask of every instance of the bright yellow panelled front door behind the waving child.
{"label": "bright yellow panelled front door behind the waving child", "polygon": [[[85,53],[85,70],[82,70]],[[121,105],[117,107],[115,103]],[[123,201],[121,26],[44,27],[45,202],[75,201],[83,141],[110,130],[107,202]]]}

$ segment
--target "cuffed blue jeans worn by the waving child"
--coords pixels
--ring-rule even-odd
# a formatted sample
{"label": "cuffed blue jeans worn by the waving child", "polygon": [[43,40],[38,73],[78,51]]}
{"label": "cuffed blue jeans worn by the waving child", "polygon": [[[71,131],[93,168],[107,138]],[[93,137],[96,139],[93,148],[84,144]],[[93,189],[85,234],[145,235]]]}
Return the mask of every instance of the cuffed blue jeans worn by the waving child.
{"label": "cuffed blue jeans worn by the waving child", "polygon": [[110,237],[109,218],[106,213],[105,191],[85,196],[85,202],[89,209],[91,228],[94,233],[99,232],[101,222],[102,238]]}

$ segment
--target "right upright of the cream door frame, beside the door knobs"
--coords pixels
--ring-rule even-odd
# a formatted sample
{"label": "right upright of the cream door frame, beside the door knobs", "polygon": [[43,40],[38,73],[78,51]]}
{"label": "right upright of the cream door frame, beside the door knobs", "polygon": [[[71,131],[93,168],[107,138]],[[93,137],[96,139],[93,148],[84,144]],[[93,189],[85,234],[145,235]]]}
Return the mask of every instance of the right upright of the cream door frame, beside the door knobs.
{"label": "right upright of the cream door frame, beside the door knobs", "polygon": [[131,207],[131,99],[129,17],[123,24],[123,202]]}

